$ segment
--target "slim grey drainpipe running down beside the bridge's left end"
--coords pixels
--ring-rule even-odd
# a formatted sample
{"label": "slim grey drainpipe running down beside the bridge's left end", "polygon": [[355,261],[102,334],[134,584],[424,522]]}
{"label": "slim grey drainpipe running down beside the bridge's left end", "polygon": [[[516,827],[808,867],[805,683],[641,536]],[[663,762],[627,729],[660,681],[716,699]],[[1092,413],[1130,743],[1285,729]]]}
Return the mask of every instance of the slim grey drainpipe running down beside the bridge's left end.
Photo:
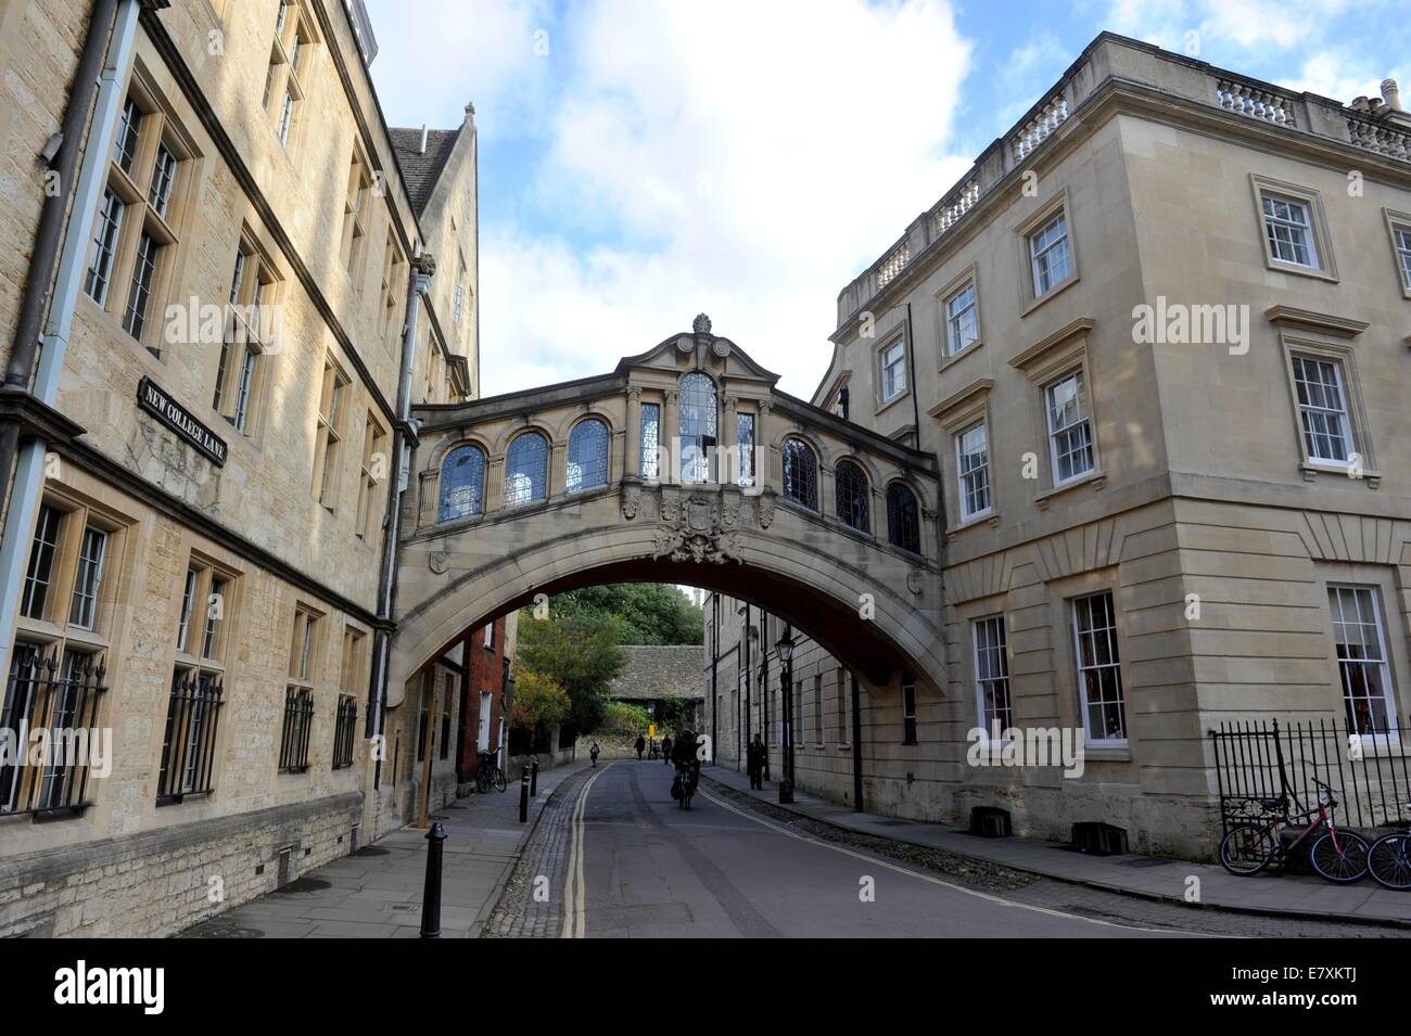
{"label": "slim grey drainpipe running down beside the bridge's left end", "polygon": [[[387,493],[387,516],[382,520],[382,565],[377,578],[377,617],[380,629],[373,637],[373,672],[367,688],[367,720],[364,734],[377,737],[387,727],[387,670],[392,650],[392,633],[385,629],[392,622],[396,600],[396,544],[402,531],[402,493],[411,478],[409,438],[415,438],[412,417],[412,372],[416,366],[416,323],[422,302],[430,304],[432,275],[436,261],[426,252],[412,259],[412,276],[406,282],[406,323],[402,326],[402,369],[396,378],[396,423],[392,430],[394,478],[396,483]],[[411,436],[408,434],[411,433]],[[380,753],[381,754],[381,753]],[[373,788],[382,779],[382,761],[373,772]]]}

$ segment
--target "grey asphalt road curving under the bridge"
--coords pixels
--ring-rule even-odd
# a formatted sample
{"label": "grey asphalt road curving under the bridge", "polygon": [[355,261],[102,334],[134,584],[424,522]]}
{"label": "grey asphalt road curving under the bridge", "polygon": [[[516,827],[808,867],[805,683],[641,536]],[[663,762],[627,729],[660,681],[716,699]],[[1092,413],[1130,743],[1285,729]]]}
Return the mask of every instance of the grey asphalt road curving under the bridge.
{"label": "grey asphalt road curving under the bridge", "polygon": [[[687,812],[672,768],[617,763],[579,792],[562,868],[570,937],[1182,935],[962,888],[790,832],[701,789]],[[871,895],[868,895],[871,894]]]}

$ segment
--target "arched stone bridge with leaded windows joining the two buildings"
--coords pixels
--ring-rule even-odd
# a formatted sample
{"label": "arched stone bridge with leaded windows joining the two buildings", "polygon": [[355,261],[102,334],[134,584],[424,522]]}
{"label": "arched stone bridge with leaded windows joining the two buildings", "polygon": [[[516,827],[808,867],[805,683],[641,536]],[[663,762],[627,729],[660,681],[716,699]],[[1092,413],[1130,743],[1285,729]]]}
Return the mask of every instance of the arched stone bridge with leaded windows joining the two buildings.
{"label": "arched stone bridge with leaded windows joining the two buildings", "polygon": [[872,686],[933,682],[935,457],[777,381],[701,316],[607,375],[416,407],[388,703],[467,630],[611,582],[720,591]]}

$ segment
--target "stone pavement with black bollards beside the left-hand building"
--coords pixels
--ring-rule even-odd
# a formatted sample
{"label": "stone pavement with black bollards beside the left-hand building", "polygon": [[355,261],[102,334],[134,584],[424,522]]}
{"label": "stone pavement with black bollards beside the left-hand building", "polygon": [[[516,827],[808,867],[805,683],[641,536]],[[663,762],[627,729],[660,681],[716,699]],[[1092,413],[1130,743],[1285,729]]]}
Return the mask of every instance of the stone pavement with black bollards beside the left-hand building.
{"label": "stone pavement with black bollards beside the left-hand building", "polygon": [[[550,792],[587,763],[539,771],[529,822],[519,823],[519,784],[470,795],[433,812],[446,829],[442,937],[480,935]],[[186,929],[182,939],[416,939],[426,880],[426,832],[395,830],[282,889]]]}

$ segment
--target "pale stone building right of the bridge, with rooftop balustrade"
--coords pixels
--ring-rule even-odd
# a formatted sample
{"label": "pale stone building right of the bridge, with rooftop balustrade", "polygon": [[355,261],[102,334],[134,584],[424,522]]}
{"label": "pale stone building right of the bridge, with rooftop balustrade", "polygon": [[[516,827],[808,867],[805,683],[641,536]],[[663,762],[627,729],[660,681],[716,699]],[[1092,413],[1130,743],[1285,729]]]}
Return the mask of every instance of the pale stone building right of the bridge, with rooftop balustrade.
{"label": "pale stone building right of the bridge, with rooftop balustrade", "polygon": [[[813,402],[940,458],[945,664],[859,686],[800,634],[801,787],[1209,856],[1208,730],[1397,726],[1411,116],[1383,93],[1342,104],[1099,35],[842,289]],[[827,506],[882,536],[832,474]],[[739,599],[707,619],[734,761],[782,715],[777,633]],[[1074,732],[1082,774],[972,765],[996,722]]]}

